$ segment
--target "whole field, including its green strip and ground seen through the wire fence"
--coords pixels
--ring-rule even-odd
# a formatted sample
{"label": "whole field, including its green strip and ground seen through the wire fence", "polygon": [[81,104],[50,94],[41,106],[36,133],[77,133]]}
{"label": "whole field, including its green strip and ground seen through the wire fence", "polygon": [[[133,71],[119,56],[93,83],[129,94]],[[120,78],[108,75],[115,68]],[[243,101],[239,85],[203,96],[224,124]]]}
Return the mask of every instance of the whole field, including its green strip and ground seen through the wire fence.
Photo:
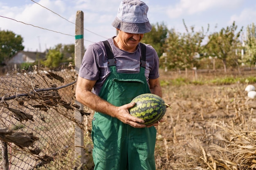
{"label": "whole field, including its green strip and ground seen through the wire fence", "polygon": [[[59,74],[64,73],[72,74],[67,71]],[[46,76],[42,77],[46,78]],[[66,76],[63,75],[63,77]],[[70,77],[70,81],[72,80]],[[34,81],[34,84],[43,86],[41,81],[36,81],[36,79]],[[5,81],[6,87],[9,87],[8,82],[19,84],[18,77],[12,77],[12,81]],[[31,82],[23,81],[23,83],[27,87],[29,85],[26,83]],[[48,84],[55,83],[48,82]],[[164,72],[160,70],[160,83],[163,99],[166,103],[171,104],[171,108],[167,108],[164,122],[156,127],[155,159],[157,170],[256,170],[256,99],[249,99],[245,91],[248,84],[256,86],[255,70],[250,71],[243,68],[241,72],[229,70],[227,73],[222,70],[198,70],[197,74],[193,71],[188,71],[185,74],[184,71]],[[72,96],[74,96],[72,89],[73,87],[70,86],[59,90],[65,101],[72,101]],[[2,93],[6,94],[7,91],[4,89]],[[31,106],[38,104],[33,103],[32,100],[30,102],[32,102]],[[38,102],[40,101],[38,100]],[[11,102],[9,103],[11,104]],[[17,105],[16,102],[12,102],[12,104]],[[62,115],[67,116],[66,109],[64,112]],[[61,121],[51,118],[50,123],[54,126],[48,128],[45,125],[45,119],[40,117],[45,115],[37,113],[40,112],[34,113],[34,116],[38,115],[34,117],[36,121],[30,122],[31,125],[27,126],[29,130],[38,130],[37,133],[41,135],[46,134],[47,131],[49,137],[52,137],[53,134],[56,137],[60,135],[63,138],[57,141],[64,143],[69,139],[65,138],[67,135],[63,132],[72,131],[72,124],[70,124],[71,128],[57,126],[62,124],[62,120],[64,120],[62,116],[57,116],[61,118]],[[69,113],[72,118],[73,112]],[[50,119],[52,115],[48,115],[47,119]],[[92,116],[93,114],[84,116],[85,129],[88,130],[84,137],[86,170],[93,169],[92,139],[90,137]],[[11,118],[9,117],[9,119]],[[2,122],[9,119],[4,117]],[[41,121],[43,122],[38,124]],[[16,123],[13,120],[10,122]],[[67,120],[67,122],[70,121]],[[22,130],[26,129],[22,128]],[[67,145],[64,143],[61,145],[66,148]],[[62,153],[62,150],[56,147],[58,145],[42,143],[42,146],[46,145],[50,146],[44,148],[45,151],[49,152],[49,155],[57,152],[57,150]],[[66,148],[66,150],[72,152],[72,148]],[[13,153],[15,154],[15,152]],[[69,153],[69,155],[73,154]],[[21,157],[16,155],[12,155],[12,157],[23,161]],[[72,160],[72,156],[68,157],[68,154],[62,154],[58,159],[55,159],[54,163],[63,169],[64,166],[73,166],[73,162],[70,160]],[[49,164],[50,166],[52,165]],[[15,167],[17,168],[18,165]]]}

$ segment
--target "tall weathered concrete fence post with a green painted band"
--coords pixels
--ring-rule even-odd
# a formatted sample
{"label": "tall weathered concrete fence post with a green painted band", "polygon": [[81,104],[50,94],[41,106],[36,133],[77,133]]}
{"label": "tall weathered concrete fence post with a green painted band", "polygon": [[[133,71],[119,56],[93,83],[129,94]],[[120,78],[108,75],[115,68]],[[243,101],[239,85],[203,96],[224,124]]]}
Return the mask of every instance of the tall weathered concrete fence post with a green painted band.
{"label": "tall weathered concrete fence post with a green painted band", "polygon": [[[76,33],[75,33],[75,70],[76,73],[79,73],[79,68],[81,66],[81,62],[83,59],[84,46],[83,46],[83,11],[76,12]],[[80,106],[80,110],[83,110],[83,104],[75,100],[75,104]],[[77,110],[74,112],[74,118],[83,122],[83,116]],[[84,151],[84,143],[83,143],[83,130],[79,128],[75,124],[75,135],[74,135],[74,159],[75,159],[75,167],[79,167],[80,165],[85,163],[85,151]]]}

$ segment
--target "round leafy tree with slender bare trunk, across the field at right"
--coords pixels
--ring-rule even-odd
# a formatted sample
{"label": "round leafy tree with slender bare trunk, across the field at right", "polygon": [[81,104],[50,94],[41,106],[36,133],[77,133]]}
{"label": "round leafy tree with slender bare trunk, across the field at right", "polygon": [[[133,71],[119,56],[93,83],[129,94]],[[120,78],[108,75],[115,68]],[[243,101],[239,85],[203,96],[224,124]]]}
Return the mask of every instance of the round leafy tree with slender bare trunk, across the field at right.
{"label": "round leafy tree with slender bare trunk, across the field at right", "polygon": [[236,32],[237,26],[235,22],[227,28],[222,28],[220,32],[215,32],[209,35],[209,42],[206,44],[207,52],[212,57],[218,57],[222,60],[224,66],[224,72],[227,72],[227,58],[234,57],[236,55],[236,49],[238,49],[240,33],[243,31],[243,27]]}

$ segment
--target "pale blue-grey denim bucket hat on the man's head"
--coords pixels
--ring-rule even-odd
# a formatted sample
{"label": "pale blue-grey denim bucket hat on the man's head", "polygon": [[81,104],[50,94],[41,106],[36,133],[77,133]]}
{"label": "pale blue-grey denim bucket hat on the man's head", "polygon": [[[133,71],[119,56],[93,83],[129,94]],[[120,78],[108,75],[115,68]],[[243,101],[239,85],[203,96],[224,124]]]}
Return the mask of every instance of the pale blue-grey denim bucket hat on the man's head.
{"label": "pale blue-grey denim bucket hat on the man's head", "polygon": [[152,26],[147,17],[148,6],[140,0],[123,0],[112,26],[126,33],[144,34]]}

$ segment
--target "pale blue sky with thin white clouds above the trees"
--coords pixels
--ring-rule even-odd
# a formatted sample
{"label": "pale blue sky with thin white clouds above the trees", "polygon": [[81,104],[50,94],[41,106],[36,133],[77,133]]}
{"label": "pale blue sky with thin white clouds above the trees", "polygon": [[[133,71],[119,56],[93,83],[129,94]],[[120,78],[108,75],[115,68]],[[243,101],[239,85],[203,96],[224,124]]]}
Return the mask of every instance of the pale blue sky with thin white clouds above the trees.
{"label": "pale blue sky with thin white clouds above the trees", "polygon": [[[235,21],[238,30],[256,24],[256,0],[142,0],[151,24],[184,33],[183,20],[195,31],[219,32]],[[121,0],[0,0],[0,30],[23,38],[25,51],[44,52],[57,44],[75,44],[77,11],[84,14],[85,49],[116,35],[111,25]]]}

